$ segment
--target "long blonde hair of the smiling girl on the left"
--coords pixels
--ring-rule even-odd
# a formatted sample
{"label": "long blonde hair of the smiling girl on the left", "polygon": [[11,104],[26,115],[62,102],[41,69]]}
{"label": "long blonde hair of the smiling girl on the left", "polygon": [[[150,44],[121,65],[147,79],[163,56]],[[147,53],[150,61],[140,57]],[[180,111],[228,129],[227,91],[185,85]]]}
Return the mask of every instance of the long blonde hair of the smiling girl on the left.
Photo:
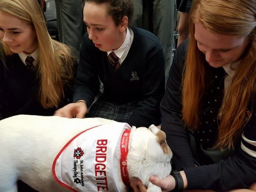
{"label": "long blonde hair of the smiling girl on the left", "polygon": [[[64,96],[64,85],[72,82],[73,64],[77,58],[71,48],[50,37],[37,0],[0,0],[0,10],[28,22],[36,31],[37,75],[40,77],[38,100],[44,108],[58,107]],[[6,43],[2,40],[0,43],[5,55],[14,54]]]}

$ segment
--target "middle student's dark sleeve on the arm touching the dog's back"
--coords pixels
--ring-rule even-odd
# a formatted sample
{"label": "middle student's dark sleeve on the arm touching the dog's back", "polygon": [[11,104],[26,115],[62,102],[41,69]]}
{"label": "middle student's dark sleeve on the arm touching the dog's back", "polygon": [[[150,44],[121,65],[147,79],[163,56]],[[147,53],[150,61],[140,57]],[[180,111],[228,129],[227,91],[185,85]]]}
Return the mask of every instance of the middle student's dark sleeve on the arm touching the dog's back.
{"label": "middle student's dark sleeve on the arm touching the dog's back", "polygon": [[99,78],[95,64],[95,55],[86,33],[82,38],[79,62],[76,75],[75,92],[73,102],[85,100],[89,108],[99,90]]}

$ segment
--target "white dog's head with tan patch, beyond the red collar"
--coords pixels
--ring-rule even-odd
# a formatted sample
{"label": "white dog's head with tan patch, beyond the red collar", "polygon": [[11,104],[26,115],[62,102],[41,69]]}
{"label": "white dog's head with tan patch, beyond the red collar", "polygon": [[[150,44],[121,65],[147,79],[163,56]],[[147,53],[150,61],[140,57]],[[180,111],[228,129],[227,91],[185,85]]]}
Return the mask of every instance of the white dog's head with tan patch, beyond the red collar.
{"label": "white dog's head with tan patch, beyond the red collar", "polygon": [[127,156],[130,178],[138,177],[145,186],[152,186],[149,182],[150,176],[165,178],[170,174],[171,158],[172,151],[166,143],[166,134],[163,131],[154,125],[149,128],[132,127]]}

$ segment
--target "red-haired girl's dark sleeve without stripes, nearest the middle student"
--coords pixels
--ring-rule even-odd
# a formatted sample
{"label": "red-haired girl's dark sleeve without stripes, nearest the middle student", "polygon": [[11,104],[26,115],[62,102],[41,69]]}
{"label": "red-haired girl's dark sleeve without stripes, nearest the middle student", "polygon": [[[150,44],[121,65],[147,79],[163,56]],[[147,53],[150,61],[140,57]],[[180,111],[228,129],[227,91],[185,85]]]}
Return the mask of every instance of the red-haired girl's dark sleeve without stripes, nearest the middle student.
{"label": "red-haired girl's dark sleeve without stripes, nearest the middle student", "polygon": [[184,66],[187,41],[176,50],[166,92],[161,102],[162,127],[166,133],[166,141],[173,152],[172,168],[195,166],[194,158],[188,143],[188,130],[182,121],[182,70]]}

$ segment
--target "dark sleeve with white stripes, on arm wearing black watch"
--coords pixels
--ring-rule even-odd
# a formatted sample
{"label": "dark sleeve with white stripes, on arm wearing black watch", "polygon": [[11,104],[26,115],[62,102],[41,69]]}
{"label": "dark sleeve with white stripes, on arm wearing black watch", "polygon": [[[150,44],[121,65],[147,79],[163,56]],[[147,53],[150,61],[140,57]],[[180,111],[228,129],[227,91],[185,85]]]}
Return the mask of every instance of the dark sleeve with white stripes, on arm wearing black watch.
{"label": "dark sleeve with white stripes, on arm wearing black watch", "polygon": [[184,168],[188,179],[187,189],[226,191],[248,188],[256,182],[256,114],[244,127],[241,142],[234,156],[218,164]]}

